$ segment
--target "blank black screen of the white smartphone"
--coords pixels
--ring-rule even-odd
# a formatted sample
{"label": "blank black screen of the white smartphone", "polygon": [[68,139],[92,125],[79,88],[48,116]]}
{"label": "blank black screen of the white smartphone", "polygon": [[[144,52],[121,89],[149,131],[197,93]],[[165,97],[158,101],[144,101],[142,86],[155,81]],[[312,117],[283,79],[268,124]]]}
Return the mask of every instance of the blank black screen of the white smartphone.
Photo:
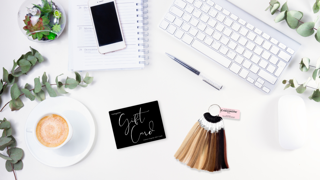
{"label": "blank black screen of the white smartphone", "polygon": [[91,7],[99,46],[123,41],[114,2]]}

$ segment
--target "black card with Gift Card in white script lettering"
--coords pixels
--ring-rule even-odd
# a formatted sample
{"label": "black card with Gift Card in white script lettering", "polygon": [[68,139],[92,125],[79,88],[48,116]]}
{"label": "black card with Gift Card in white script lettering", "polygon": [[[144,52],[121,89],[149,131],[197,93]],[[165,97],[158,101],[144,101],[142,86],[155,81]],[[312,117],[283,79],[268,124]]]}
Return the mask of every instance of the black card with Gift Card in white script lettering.
{"label": "black card with Gift Card in white script lettering", "polygon": [[158,101],[109,111],[117,149],[165,138]]}

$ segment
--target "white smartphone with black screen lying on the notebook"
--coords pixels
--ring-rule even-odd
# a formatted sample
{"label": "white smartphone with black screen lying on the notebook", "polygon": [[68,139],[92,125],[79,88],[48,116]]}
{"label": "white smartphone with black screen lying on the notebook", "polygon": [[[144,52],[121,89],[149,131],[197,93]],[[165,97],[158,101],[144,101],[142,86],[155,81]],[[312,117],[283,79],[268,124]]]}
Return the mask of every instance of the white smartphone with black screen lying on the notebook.
{"label": "white smartphone with black screen lying on the notebook", "polygon": [[89,11],[99,53],[112,53],[125,48],[115,0],[89,0]]}

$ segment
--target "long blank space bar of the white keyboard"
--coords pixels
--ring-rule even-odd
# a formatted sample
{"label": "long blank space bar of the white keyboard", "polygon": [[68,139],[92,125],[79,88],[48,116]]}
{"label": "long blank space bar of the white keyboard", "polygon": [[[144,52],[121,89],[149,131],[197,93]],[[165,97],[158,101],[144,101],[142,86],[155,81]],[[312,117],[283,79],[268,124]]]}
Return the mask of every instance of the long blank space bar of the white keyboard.
{"label": "long blank space bar of the white keyboard", "polygon": [[220,53],[216,52],[215,50],[211,49],[210,47],[201,43],[198,40],[194,40],[191,46],[226,68],[228,68],[232,62],[225,56],[221,55]]}

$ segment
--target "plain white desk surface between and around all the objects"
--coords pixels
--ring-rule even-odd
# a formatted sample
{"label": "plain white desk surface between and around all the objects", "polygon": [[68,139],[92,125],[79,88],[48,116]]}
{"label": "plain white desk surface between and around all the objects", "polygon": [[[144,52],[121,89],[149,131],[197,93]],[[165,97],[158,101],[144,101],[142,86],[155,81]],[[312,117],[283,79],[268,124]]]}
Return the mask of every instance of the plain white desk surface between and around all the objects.
{"label": "plain white desk surface between and around all the objects", "polygon": [[[69,90],[68,96],[82,102],[91,112],[96,136],[89,153],[83,160],[66,168],[52,168],[38,162],[28,151],[24,140],[25,121],[30,111],[39,103],[25,97],[24,107],[11,111],[6,107],[0,113],[10,120],[17,147],[24,152],[23,169],[16,171],[18,180],[22,179],[316,179],[319,178],[320,162],[320,103],[311,101],[308,96],[296,93],[294,88],[283,90],[277,84],[270,95],[262,94],[253,87],[223,70],[212,61],[182,45],[177,40],[157,28],[157,24],[173,0],[149,0],[150,62],[143,70],[93,71],[94,81],[86,88]],[[275,23],[276,15],[264,10],[268,0],[230,0],[245,11],[250,12],[270,26],[287,34],[301,43],[301,47],[282,79],[297,78],[303,83],[310,72],[301,72],[299,63],[308,57],[311,65],[319,57],[320,44],[314,36],[301,37],[286,23]],[[23,88],[25,83],[33,85],[33,79],[46,71],[49,82],[68,72],[68,25],[55,41],[36,43],[29,41],[17,25],[17,12],[23,0],[15,3],[2,1],[1,67],[12,68],[12,60],[29,51],[29,46],[38,50],[45,60],[36,64],[28,75],[20,76],[17,84]],[[281,5],[285,0],[281,0]],[[68,17],[68,1],[59,0]],[[304,12],[303,22],[313,21],[314,0],[288,0],[290,10]],[[320,20],[316,27],[320,25]],[[193,73],[172,61],[164,53],[170,53],[192,67],[204,72],[223,85],[221,91],[204,83]],[[2,70],[0,70],[2,74]],[[80,72],[82,76],[86,72]],[[66,76],[64,78],[66,78]],[[309,85],[312,85],[310,82]],[[46,92],[47,93],[47,92]],[[285,150],[278,142],[277,103],[283,95],[298,95],[303,98],[307,109],[308,132],[305,145],[298,150]],[[63,95],[63,94],[58,94]],[[46,94],[48,98],[49,95]],[[10,88],[1,96],[1,107],[10,100]],[[128,148],[116,149],[108,111],[159,101],[166,139],[144,143]],[[193,124],[207,111],[211,104],[241,111],[240,120],[224,119],[227,137],[227,154],[230,168],[219,172],[191,169],[173,157]],[[217,110],[217,109],[215,109]],[[213,111],[212,111],[213,112]],[[2,153],[5,153],[4,151]],[[0,159],[0,179],[14,179],[12,172],[5,170],[5,160]]]}

